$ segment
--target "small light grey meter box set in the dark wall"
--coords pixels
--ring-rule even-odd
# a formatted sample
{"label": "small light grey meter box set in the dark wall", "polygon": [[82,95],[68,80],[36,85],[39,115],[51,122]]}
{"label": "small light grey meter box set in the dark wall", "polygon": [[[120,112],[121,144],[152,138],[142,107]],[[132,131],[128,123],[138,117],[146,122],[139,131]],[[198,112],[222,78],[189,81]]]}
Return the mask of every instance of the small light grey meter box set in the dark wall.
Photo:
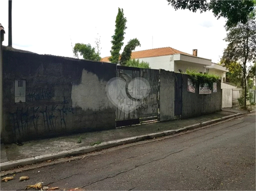
{"label": "small light grey meter box set in the dark wall", "polygon": [[15,102],[26,102],[26,80],[15,80]]}

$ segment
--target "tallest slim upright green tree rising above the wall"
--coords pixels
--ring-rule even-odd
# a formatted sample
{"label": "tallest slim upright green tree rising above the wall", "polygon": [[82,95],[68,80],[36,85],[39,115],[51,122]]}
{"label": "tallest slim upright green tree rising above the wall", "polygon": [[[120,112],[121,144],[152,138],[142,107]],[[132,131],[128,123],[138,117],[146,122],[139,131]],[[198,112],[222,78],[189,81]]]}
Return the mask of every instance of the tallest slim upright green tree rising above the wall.
{"label": "tallest slim upright green tree rising above the wall", "polygon": [[115,20],[115,34],[112,36],[112,48],[110,50],[111,56],[109,61],[112,63],[119,62],[119,52],[123,46],[124,34],[126,30],[127,19],[124,17],[123,9],[118,8],[118,13]]}

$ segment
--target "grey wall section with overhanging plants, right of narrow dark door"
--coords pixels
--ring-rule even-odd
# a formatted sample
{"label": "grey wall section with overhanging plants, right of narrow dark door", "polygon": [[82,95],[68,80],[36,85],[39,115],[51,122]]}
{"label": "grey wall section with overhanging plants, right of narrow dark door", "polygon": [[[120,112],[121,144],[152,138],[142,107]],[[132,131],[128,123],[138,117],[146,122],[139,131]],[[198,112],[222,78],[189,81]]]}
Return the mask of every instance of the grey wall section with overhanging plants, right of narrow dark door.
{"label": "grey wall section with overhanging plants, right of narrow dark door", "polygon": [[196,87],[195,93],[188,92],[188,75],[183,75],[182,87],[182,118],[200,116],[203,114],[221,111],[222,109],[222,91],[220,82],[217,83],[217,93],[199,94],[199,87]]}

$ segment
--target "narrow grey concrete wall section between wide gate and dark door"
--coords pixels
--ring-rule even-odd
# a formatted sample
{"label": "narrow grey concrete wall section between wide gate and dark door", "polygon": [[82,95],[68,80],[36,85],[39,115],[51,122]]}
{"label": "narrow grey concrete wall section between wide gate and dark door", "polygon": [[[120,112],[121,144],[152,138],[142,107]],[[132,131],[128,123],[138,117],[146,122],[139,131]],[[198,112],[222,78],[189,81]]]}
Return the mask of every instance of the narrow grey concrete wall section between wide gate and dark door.
{"label": "narrow grey concrete wall section between wide gate and dark door", "polygon": [[160,121],[174,119],[174,72],[160,70]]}

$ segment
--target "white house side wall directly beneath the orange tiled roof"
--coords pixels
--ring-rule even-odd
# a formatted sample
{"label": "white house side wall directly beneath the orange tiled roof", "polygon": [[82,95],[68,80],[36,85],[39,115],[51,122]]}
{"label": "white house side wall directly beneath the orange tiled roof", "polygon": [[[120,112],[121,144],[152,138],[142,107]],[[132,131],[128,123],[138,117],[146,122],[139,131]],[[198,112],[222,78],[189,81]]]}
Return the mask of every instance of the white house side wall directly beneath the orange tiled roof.
{"label": "white house side wall directly beneath the orange tiled roof", "polygon": [[[174,64],[171,61],[171,56],[156,56],[156,57],[147,57],[139,58],[139,61],[144,61],[149,63],[151,69],[164,69],[167,71],[174,71]],[[136,59],[137,60],[137,59]]]}

